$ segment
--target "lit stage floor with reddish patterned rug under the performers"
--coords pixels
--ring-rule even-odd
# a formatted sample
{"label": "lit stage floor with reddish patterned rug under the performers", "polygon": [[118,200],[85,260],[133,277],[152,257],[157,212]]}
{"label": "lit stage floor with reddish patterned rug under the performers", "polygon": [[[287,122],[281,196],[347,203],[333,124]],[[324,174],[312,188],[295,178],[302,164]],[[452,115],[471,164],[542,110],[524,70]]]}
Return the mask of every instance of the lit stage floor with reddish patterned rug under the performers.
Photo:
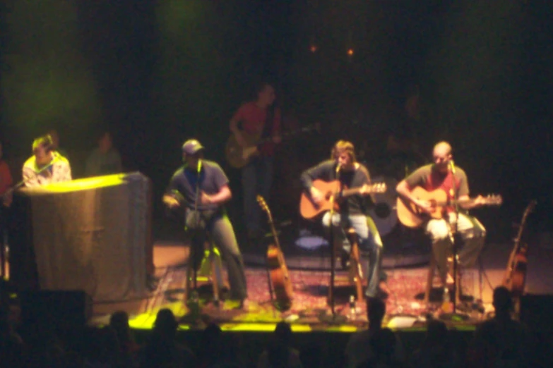
{"label": "lit stage floor with reddish patterned rug under the performers", "polygon": [[[208,277],[198,282],[200,309],[194,310],[183,303],[186,262],[189,248],[184,243],[159,242],[154,247],[156,276],[160,278],[157,290],[148,298],[117,303],[95,303],[93,324],[107,324],[109,314],[124,309],[131,316],[131,326],[135,329],[151,329],[155,314],[161,308],[170,308],[179,319],[182,329],[201,329],[208,321],[218,322],[223,329],[230,331],[272,331],[275,323],[285,319],[292,323],[294,331],[345,331],[352,332],[364,328],[367,318],[364,302],[355,305],[352,313],[350,295],[355,289],[348,283],[346,271],[338,271],[335,292],[335,314],[326,302],[330,272],[328,257],[324,252],[300,252],[287,255],[290,278],[294,286],[294,301],[287,312],[279,312],[270,302],[266,270],[256,262],[262,259],[259,254],[245,253],[246,278],[249,290],[247,310],[231,309],[232,305],[222,302],[213,305],[213,295]],[[469,317],[465,321],[448,321],[450,326],[459,329],[473,329],[478,321],[486,319],[492,311],[492,290],[501,283],[509,258],[511,245],[489,244],[481,256],[480,267],[466,270],[461,282],[464,303]],[[260,258],[261,257],[261,258]],[[419,257],[419,256],[417,256]],[[424,325],[428,314],[439,317],[441,302],[439,290],[434,290],[431,301],[422,301],[427,278],[427,264],[398,266],[403,254],[386,254],[384,268],[388,275],[387,285],[391,290],[386,299],[384,323],[394,329],[409,329]],[[394,261],[396,259],[396,261]],[[549,265],[553,250],[549,247],[533,247],[528,259],[527,293],[553,294],[553,268]],[[226,280],[225,271],[222,279]],[[472,308],[475,302],[484,307],[484,312]]]}

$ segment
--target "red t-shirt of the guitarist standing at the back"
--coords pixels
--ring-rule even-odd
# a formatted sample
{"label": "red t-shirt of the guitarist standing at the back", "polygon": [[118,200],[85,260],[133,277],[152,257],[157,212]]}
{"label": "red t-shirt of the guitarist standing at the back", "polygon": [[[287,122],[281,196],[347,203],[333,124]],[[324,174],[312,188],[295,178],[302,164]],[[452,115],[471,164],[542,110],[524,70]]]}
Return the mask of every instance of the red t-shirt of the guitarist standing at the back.
{"label": "red t-shirt of the guitarist standing at the back", "polygon": [[[242,104],[233,116],[239,123],[242,123],[242,130],[248,134],[261,135],[267,118],[267,109],[260,109],[254,101]],[[280,109],[275,109],[273,116],[273,128],[270,135],[280,133]],[[263,138],[262,138],[263,139]],[[262,154],[271,156],[275,147],[273,142],[266,142],[259,147]]]}

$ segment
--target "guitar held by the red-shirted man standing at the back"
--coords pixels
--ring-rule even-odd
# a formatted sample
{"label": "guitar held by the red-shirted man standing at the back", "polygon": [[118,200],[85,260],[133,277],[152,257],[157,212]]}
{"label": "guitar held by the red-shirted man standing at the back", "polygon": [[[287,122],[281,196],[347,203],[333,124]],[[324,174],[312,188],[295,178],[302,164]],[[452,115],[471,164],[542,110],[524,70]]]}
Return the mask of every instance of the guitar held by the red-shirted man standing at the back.
{"label": "guitar held by the red-shirted man standing at the back", "polygon": [[[321,124],[315,123],[312,125],[307,125],[304,128],[299,128],[298,130],[290,130],[281,135],[283,139],[298,135],[299,133],[307,133],[312,130],[316,130],[320,133]],[[267,142],[272,142],[273,137],[262,138],[261,133],[257,135],[248,134],[242,131],[242,137],[246,141],[246,147],[242,147],[238,144],[234,134],[231,134],[227,139],[227,145],[225,145],[225,158],[228,163],[233,168],[242,168],[246,166],[249,161],[259,154],[258,147]]]}

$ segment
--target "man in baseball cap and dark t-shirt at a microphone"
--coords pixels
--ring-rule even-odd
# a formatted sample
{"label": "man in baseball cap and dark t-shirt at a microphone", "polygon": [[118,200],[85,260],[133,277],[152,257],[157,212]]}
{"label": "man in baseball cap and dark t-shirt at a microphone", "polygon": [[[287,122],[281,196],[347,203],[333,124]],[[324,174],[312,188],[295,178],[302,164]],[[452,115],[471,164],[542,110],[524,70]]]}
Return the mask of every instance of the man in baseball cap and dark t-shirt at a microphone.
{"label": "man in baseball cap and dark t-shirt at a microphone", "polygon": [[[220,249],[227,263],[230,299],[244,307],[247,298],[244,262],[232,224],[225,214],[224,204],[232,198],[229,180],[214,161],[203,159],[204,147],[191,139],[182,145],[184,166],[171,178],[163,202],[170,209],[185,208],[186,228],[194,230],[192,246],[195,254],[203,254],[207,232]],[[198,259],[193,260],[194,263]]]}

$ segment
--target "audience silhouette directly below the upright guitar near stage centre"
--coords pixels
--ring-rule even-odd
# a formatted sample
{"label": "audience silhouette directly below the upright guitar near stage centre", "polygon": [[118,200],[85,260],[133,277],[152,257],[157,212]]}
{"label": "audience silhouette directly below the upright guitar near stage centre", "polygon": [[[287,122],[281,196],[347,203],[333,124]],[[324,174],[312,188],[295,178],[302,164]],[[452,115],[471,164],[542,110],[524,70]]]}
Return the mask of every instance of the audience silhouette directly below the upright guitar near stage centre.
{"label": "audience silhouette directly below the upright guitar near stage centre", "polygon": [[290,325],[280,321],[266,350],[259,356],[257,368],[302,368],[299,352],[290,346],[291,341]]}

